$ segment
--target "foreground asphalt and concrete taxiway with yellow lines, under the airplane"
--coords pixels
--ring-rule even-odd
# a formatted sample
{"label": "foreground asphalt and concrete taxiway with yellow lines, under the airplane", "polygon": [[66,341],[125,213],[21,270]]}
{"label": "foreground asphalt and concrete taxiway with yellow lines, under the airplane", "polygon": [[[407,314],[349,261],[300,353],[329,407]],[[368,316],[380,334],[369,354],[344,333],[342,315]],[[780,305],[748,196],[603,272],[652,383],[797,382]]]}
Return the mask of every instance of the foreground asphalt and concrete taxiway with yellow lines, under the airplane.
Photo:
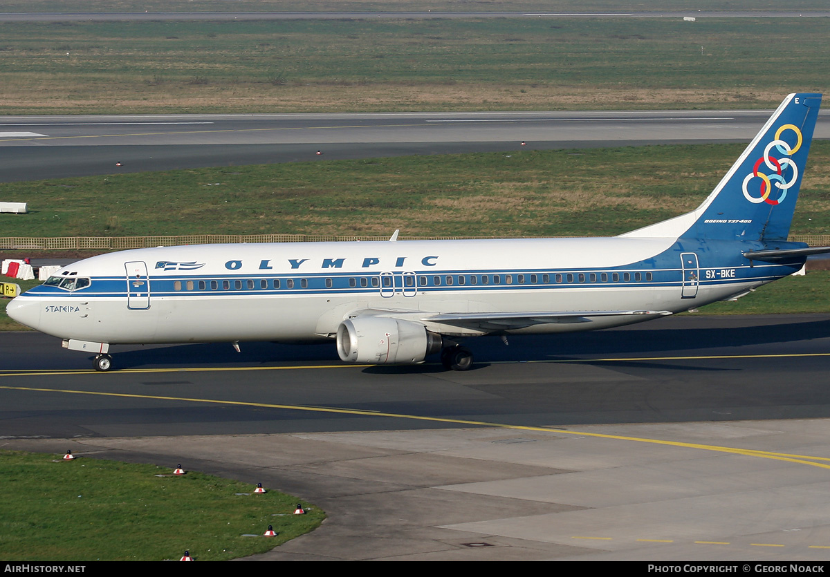
{"label": "foreground asphalt and concrete taxiway with yellow lines, under the airplane", "polygon": [[[0,335],[0,444],[264,482],[323,507],[261,559],[827,560],[830,315],[474,339],[466,373],[334,347]],[[20,354],[27,351],[26,356]]]}

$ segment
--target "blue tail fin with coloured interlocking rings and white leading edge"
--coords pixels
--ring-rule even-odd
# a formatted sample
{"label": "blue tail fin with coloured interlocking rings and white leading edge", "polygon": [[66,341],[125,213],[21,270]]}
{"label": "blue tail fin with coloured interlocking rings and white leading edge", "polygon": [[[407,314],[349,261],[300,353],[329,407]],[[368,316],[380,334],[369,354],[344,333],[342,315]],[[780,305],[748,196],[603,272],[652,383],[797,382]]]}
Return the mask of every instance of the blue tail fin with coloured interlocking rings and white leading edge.
{"label": "blue tail fin with coloured interlocking rings and white leading edge", "polygon": [[821,102],[789,95],[701,206],[623,236],[787,240]]}

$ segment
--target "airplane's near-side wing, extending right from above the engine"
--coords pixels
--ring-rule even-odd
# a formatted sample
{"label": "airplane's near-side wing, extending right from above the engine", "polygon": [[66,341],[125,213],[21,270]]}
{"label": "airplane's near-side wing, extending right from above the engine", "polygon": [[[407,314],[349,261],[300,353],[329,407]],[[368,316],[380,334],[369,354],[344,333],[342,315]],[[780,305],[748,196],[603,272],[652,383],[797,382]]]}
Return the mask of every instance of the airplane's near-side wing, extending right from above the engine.
{"label": "airplane's near-side wing, extending right from above the engine", "polygon": [[521,313],[434,313],[420,318],[423,322],[440,322],[453,327],[481,331],[508,331],[546,323],[590,322],[598,317],[668,315],[671,311],[528,311]]}

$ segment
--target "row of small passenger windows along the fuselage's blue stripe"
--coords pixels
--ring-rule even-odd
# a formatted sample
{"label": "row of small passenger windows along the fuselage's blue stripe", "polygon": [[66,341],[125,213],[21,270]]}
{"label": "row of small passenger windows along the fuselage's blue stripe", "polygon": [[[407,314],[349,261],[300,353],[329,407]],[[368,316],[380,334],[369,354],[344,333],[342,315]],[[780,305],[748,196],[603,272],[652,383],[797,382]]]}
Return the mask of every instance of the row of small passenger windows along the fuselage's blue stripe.
{"label": "row of small passenger windows along the fuselage's blue stripe", "polygon": [[[418,286],[420,287],[440,287],[452,286],[453,284],[550,284],[551,279],[554,284],[568,284],[568,283],[639,283],[645,279],[646,282],[651,282],[652,273],[557,273],[557,274],[446,274],[434,275],[428,277],[421,275],[418,277]],[[432,281],[432,282],[430,282]],[[325,279],[325,288],[332,288],[334,281],[332,279]],[[393,288],[393,276],[383,275],[381,277],[351,277],[349,278],[349,288],[378,288],[383,284],[383,288]],[[173,282],[173,290],[254,290],[259,288],[267,290],[269,288],[308,288],[308,279],[236,279],[236,280],[188,280],[184,283],[177,280]],[[412,288],[415,286],[415,276],[413,274],[403,275],[403,286]]]}

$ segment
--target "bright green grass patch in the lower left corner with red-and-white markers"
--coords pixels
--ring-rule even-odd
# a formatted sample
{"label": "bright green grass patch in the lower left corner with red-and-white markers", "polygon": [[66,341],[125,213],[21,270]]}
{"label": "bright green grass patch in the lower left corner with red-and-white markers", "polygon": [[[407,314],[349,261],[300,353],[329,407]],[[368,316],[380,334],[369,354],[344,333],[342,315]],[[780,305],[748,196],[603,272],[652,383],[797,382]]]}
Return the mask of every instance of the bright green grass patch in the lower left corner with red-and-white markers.
{"label": "bright green grass patch in the lower left corner with red-and-white markers", "polygon": [[[0,451],[5,561],[228,560],[271,550],[319,526],[295,497],[172,468]],[[178,463],[172,463],[171,467]],[[274,527],[276,537],[262,533]],[[251,535],[251,536],[247,536]]]}

